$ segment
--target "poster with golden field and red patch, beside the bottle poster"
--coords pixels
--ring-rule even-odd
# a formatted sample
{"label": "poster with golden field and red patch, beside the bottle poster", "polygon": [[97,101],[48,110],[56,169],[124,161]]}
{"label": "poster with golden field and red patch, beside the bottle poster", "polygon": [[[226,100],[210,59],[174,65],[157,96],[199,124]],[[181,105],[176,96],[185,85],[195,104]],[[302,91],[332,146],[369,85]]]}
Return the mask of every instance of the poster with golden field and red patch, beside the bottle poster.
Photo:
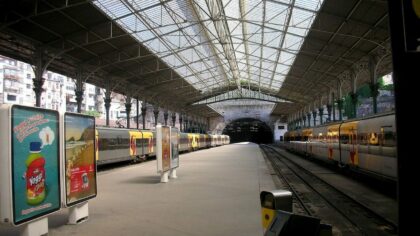
{"label": "poster with golden field and red patch, beside the bottle poster", "polygon": [[96,196],[95,118],[66,113],[65,183],[67,206]]}

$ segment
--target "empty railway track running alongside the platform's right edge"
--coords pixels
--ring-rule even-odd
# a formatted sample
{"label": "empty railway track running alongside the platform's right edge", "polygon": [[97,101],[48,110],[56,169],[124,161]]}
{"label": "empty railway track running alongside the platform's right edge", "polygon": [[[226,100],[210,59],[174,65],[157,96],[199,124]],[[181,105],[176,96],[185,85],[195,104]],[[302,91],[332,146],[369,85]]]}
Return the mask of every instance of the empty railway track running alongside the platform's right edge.
{"label": "empty railway track running alongside the platform's right edge", "polygon": [[321,219],[333,235],[396,235],[397,226],[334,186],[281,155],[260,145],[277,175],[293,193],[294,213]]}

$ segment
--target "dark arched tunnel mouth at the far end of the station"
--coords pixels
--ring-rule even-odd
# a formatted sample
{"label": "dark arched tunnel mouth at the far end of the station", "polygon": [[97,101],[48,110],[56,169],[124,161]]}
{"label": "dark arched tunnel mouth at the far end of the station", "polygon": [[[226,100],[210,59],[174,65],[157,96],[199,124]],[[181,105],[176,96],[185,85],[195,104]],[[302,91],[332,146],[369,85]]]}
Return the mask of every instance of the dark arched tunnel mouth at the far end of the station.
{"label": "dark arched tunnel mouth at the far end of the station", "polygon": [[273,132],[268,125],[253,118],[241,118],[226,125],[223,134],[230,136],[231,143],[272,143]]}

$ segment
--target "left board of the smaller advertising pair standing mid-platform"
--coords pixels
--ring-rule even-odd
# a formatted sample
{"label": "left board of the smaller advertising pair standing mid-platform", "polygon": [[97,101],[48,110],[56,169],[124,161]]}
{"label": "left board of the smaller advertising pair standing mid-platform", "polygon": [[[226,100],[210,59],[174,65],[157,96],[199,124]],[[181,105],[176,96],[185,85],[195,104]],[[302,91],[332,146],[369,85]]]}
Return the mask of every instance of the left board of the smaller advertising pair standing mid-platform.
{"label": "left board of the smaller advertising pair standing mid-platform", "polygon": [[166,172],[171,168],[171,140],[169,126],[156,126],[156,159],[158,172]]}

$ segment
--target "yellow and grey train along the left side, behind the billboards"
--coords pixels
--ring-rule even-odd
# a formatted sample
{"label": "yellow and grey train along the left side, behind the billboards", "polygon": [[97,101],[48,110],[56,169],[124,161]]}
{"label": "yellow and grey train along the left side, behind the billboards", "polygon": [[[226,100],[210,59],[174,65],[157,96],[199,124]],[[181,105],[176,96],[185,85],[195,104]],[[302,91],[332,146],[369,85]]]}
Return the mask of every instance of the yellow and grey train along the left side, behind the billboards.
{"label": "yellow and grey train along the left side, behind the billboards", "polygon": [[[156,132],[96,127],[97,164],[138,161],[156,155]],[[179,151],[195,151],[230,143],[228,135],[180,133]]]}

